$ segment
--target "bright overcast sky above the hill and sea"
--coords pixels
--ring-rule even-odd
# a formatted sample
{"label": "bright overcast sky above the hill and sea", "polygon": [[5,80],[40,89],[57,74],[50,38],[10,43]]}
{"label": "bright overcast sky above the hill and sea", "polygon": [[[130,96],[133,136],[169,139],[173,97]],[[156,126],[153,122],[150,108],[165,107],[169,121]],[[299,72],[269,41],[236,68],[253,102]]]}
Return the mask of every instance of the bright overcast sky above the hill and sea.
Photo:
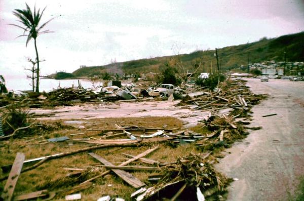
{"label": "bright overcast sky above the hill and sea", "polygon": [[[42,75],[80,65],[104,65],[196,50],[222,48],[304,30],[304,1],[293,0],[27,0],[47,7],[42,22],[56,17],[37,38]],[[14,9],[20,0],[0,0],[0,74],[24,75],[35,58],[25,47]],[[173,48],[172,47],[178,47]]]}

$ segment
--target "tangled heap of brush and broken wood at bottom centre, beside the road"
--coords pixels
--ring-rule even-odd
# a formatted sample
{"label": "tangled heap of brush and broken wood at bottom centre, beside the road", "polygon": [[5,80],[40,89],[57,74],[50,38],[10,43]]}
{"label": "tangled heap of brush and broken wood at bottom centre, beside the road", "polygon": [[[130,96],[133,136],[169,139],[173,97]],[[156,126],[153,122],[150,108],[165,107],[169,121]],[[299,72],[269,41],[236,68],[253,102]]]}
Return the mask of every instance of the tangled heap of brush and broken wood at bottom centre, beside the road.
{"label": "tangled heap of brush and broken wood at bottom centre, beside the road", "polygon": [[177,197],[181,200],[204,200],[204,197],[210,196],[217,198],[225,192],[225,187],[231,180],[213,169],[205,159],[208,155],[190,154],[178,158],[175,164],[165,167],[157,184],[143,188],[131,197],[136,195],[136,200],[175,200]]}

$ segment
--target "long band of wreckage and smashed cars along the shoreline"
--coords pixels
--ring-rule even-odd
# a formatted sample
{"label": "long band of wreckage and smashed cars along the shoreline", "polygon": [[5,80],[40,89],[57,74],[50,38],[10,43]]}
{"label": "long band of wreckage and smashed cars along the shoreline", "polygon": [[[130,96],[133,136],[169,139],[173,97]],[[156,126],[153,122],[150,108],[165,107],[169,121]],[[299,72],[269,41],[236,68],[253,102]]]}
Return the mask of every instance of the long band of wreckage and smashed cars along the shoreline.
{"label": "long band of wreckage and smashed cars along the shoreline", "polygon": [[[159,88],[161,89],[161,88]],[[157,95],[149,95],[148,89],[132,86],[117,87],[109,86],[98,89],[84,89],[82,87],[70,87],[54,89],[51,92],[35,93],[23,91],[23,94],[0,94],[0,109],[11,104],[29,108],[52,108],[55,106],[71,106],[81,103],[100,103],[117,101],[135,101],[166,97],[169,89],[164,89]],[[167,90],[167,91],[166,91]],[[170,89],[171,91],[173,89]],[[170,94],[172,93],[170,91]],[[175,90],[175,92],[178,92]]]}

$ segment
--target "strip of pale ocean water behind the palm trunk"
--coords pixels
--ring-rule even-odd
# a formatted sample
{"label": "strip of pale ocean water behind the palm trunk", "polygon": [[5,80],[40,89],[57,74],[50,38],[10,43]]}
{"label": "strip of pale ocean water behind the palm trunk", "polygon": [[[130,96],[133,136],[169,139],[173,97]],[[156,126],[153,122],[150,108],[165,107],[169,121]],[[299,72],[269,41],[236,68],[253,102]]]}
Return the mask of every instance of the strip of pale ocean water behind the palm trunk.
{"label": "strip of pale ocean water behind the palm trunk", "polygon": [[[32,90],[31,79],[26,77],[5,77],[5,84],[9,91],[18,93],[19,91]],[[80,79],[80,84],[84,88],[92,88],[93,84],[91,81]],[[39,91],[50,92],[58,87],[73,87],[78,86],[78,79],[40,79]]]}

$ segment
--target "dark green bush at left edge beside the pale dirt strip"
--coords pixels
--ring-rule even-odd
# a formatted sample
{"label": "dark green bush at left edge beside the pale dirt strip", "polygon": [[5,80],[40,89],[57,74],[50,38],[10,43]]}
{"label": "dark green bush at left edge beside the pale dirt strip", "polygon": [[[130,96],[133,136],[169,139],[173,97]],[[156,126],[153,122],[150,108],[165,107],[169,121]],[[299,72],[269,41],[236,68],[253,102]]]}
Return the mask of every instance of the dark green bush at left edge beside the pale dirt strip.
{"label": "dark green bush at left edge beside the pale dirt strip", "polygon": [[[10,105],[7,110],[2,111],[3,132],[5,135],[12,134],[20,127],[30,125],[28,110],[21,109],[17,105]],[[17,136],[30,134],[31,129],[24,129],[17,132]]]}

